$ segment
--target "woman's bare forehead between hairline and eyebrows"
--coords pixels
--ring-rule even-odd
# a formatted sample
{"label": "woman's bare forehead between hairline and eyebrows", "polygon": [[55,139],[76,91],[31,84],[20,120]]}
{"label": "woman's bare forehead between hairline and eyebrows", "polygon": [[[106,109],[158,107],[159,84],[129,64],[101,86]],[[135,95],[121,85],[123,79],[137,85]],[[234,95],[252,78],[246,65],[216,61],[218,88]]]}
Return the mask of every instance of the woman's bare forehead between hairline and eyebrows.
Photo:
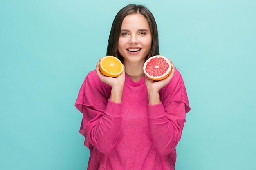
{"label": "woman's bare forehead between hairline and eyebrows", "polygon": [[140,13],[127,15],[121,29],[150,29],[147,19]]}

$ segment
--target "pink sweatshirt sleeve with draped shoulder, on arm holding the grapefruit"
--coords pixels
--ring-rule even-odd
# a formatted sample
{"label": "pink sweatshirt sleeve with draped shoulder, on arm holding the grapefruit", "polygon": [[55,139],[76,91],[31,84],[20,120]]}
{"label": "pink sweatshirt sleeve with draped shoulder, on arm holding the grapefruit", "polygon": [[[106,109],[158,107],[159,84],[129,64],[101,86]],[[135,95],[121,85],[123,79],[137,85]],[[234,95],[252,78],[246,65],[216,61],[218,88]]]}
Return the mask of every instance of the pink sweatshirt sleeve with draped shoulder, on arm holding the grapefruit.
{"label": "pink sweatshirt sleeve with draped shoulder, on arm holding the grapefruit", "polygon": [[190,110],[186,88],[177,70],[171,82],[161,91],[160,99],[159,104],[148,104],[149,130],[159,153],[168,155],[180,141],[186,113]]}

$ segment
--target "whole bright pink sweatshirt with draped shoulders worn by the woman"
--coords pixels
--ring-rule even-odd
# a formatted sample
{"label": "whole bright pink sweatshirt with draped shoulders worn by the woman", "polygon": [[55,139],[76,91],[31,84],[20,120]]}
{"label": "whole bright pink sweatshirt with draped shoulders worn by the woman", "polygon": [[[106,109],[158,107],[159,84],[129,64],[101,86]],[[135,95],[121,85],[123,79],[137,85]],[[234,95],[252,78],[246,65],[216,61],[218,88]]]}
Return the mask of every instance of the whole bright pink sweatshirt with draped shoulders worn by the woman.
{"label": "whole bright pink sweatshirt with draped shoulders worn by the woman", "polygon": [[90,150],[88,170],[174,170],[189,101],[180,72],[148,104],[145,77],[125,77],[122,102],[110,101],[111,87],[96,71],[85,78],[76,100],[83,113],[80,133]]}

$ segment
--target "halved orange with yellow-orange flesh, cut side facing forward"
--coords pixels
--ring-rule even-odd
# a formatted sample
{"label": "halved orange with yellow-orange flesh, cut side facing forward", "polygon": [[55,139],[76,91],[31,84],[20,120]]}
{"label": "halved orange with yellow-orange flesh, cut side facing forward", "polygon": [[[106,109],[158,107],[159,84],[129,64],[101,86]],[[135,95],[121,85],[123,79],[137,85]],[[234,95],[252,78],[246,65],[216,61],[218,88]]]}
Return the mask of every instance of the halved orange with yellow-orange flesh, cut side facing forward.
{"label": "halved orange with yellow-orange flesh, cut side facing forward", "polygon": [[103,75],[117,77],[123,72],[123,64],[114,56],[105,56],[99,62],[99,69]]}

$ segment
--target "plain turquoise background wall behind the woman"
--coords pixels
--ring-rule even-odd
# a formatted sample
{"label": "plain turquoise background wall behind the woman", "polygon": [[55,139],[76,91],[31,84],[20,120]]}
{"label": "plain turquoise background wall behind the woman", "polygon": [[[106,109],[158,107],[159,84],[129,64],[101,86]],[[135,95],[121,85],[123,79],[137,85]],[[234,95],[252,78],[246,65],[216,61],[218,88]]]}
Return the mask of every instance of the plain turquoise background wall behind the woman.
{"label": "plain turquoise background wall behind the woman", "polygon": [[116,13],[137,2],[189,96],[176,169],[256,169],[255,0],[1,0],[1,170],[86,169],[74,103]]}

